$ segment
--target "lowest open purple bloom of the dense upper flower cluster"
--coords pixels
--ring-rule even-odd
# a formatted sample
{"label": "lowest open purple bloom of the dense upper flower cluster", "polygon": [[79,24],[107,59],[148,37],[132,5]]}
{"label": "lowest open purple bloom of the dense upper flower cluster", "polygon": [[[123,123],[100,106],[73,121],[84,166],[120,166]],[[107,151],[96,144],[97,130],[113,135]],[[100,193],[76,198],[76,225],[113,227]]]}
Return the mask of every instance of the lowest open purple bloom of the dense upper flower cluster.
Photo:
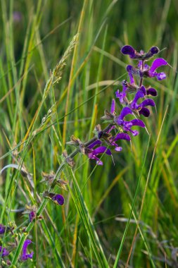
{"label": "lowest open purple bloom of the dense upper flower cluster", "polygon": [[111,155],[111,152],[105,146],[99,146],[96,149],[93,149],[94,147],[96,147],[96,145],[101,145],[101,140],[96,140],[95,142],[91,143],[91,145],[86,148],[88,150],[86,150],[85,154],[87,154],[87,157],[89,157],[89,159],[95,159],[96,164],[102,166],[103,162],[97,157],[97,155],[103,153]]}

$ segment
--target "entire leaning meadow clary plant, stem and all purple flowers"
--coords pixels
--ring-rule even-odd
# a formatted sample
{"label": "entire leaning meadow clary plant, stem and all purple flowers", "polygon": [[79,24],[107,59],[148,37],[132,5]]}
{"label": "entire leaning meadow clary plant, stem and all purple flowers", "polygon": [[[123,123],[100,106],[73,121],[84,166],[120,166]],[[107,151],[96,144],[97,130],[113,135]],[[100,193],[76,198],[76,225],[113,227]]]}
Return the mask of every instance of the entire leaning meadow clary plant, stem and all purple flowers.
{"label": "entire leaning meadow clary plant, stem and all purple flowers", "polygon": [[[155,102],[151,97],[157,96],[157,90],[153,87],[146,87],[144,85],[144,78],[156,78],[157,80],[163,80],[166,78],[165,73],[158,73],[158,68],[161,66],[166,66],[167,61],[162,58],[154,59],[149,66],[146,62],[158,54],[158,47],[151,47],[148,52],[136,51],[133,47],[125,45],[121,49],[122,54],[129,55],[133,60],[138,60],[138,64],[135,66],[128,65],[126,70],[129,76],[129,81],[122,81],[122,91],[117,90],[115,92],[115,99],[118,99],[122,105],[120,113],[117,113],[115,108],[115,99],[112,100],[110,111],[106,110],[104,116],[101,119],[104,122],[108,122],[108,126],[101,129],[101,125],[97,125],[94,129],[95,136],[88,142],[82,142],[79,138],[74,135],[71,136],[70,141],[66,142],[67,145],[72,145],[75,150],[68,155],[67,151],[63,152],[63,162],[59,166],[56,173],[51,171],[51,173],[42,173],[44,181],[48,185],[48,189],[44,191],[41,205],[37,209],[36,206],[27,207],[28,209],[28,221],[29,225],[20,230],[18,235],[14,236],[13,230],[17,230],[16,226],[13,224],[11,226],[4,226],[0,224],[0,234],[4,234],[5,231],[10,231],[12,233],[11,237],[11,248],[0,245],[1,259],[6,265],[15,265],[18,261],[25,262],[32,259],[34,252],[27,252],[27,247],[32,243],[32,240],[27,239],[32,227],[34,226],[34,221],[42,219],[40,216],[46,207],[48,200],[55,203],[56,205],[63,205],[65,200],[63,195],[60,193],[53,193],[54,188],[58,185],[60,188],[66,190],[65,185],[67,181],[63,181],[60,177],[65,165],[70,168],[75,166],[74,157],[76,154],[84,154],[89,159],[94,159],[97,165],[102,166],[103,161],[99,158],[99,155],[106,154],[112,157],[112,150],[116,152],[122,151],[120,146],[120,140],[126,140],[131,142],[131,135],[139,135],[139,131],[134,129],[134,127],[146,128],[144,123],[144,117],[150,116],[151,112],[149,107],[155,107]],[[130,99],[129,96],[132,96]],[[131,118],[130,118],[131,117]],[[20,240],[15,237],[20,236]],[[9,236],[10,237],[10,236]],[[11,251],[15,250],[12,262],[8,260]],[[63,263],[61,261],[61,266]]]}

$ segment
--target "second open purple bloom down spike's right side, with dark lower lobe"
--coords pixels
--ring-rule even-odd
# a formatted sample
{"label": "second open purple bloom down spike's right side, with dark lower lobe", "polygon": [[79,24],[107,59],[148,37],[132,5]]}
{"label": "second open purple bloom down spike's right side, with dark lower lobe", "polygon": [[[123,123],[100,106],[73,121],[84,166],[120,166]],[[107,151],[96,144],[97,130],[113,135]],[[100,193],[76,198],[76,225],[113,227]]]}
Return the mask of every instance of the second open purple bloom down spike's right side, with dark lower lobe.
{"label": "second open purple bloom down spike's right side, with dark lower lobe", "polygon": [[135,95],[134,99],[132,100],[132,103],[129,104],[129,107],[132,110],[138,110],[139,114],[143,114],[144,116],[148,117],[150,115],[150,111],[145,107],[146,106],[155,106],[155,102],[153,101],[153,99],[145,99],[140,104],[137,104],[138,100],[140,98],[145,97],[145,95],[146,95],[146,89],[142,85],[142,87],[136,92],[136,95]]}

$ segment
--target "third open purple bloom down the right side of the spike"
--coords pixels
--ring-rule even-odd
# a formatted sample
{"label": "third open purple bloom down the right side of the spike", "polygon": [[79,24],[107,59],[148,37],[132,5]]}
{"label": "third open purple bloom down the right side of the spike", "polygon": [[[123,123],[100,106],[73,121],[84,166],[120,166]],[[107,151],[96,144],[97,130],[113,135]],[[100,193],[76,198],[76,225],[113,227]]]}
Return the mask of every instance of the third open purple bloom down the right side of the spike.
{"label": "third open purple bloom down the right side of the spike", "polygon": [[140,126],[141,128],[145,128],[145,124],[140,119],[125,121],[124,118],[127,116],[127,114],[133,114],[132,109],[129,107],[124,107],[120,113],[120,116],[115,117],[115,123],[117,123],[118,126],[121,126],[123,130],[129,131],[132,133],[132,135],[136,136],[139,134],[139,131],[132,130],[132,126]]}

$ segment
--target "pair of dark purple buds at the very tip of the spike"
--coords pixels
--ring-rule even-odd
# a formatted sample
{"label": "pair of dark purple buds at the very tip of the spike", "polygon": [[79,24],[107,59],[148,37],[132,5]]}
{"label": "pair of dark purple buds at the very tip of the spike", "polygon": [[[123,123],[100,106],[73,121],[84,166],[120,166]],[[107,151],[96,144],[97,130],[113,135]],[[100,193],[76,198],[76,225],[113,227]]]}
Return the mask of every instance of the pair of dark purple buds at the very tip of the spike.
{"label": "pair of dark purple buds at the very tip of the spike", "polygon": [[151,47],[151,49],[147,53],[145,53],[143,50],[138,52],[132,46],[126,45],[122,47],[120,51],[122,52],[122,54],[129,55],[131,59],[146,60],[150,59],[155,54],[158,54],[160,50],[158,49],[158,47]]}

